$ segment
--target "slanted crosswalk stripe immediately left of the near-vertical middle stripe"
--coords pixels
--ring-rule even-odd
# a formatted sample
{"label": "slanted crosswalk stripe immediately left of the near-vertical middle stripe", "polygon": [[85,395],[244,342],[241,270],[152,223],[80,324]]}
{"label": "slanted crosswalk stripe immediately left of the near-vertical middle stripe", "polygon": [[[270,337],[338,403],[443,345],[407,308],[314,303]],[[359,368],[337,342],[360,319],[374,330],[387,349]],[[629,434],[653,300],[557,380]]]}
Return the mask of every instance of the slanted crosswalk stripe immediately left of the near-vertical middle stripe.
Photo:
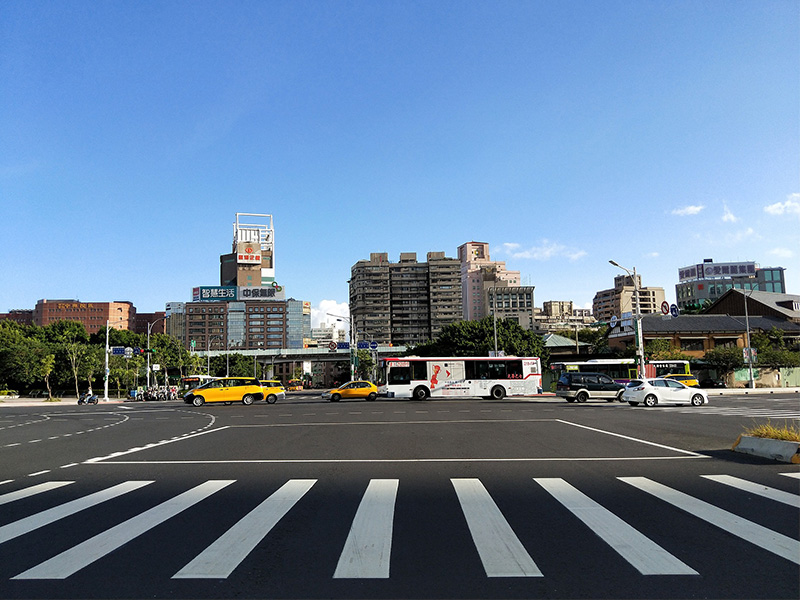
{"label": "slanted crosswalk stripe immediately left of the near-vertical middle stripe", "polygon": [[172,579],[225,579],[317,482],[292,479],[250,511]]}

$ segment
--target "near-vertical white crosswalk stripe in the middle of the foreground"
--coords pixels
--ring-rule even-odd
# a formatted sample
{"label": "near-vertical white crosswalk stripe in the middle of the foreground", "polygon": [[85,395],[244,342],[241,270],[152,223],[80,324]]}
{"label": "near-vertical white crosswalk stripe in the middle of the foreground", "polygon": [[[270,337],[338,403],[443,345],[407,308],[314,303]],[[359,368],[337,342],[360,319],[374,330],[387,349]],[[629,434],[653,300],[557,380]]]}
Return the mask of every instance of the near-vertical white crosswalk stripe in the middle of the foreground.
{"label": "near-vertical white crosswalk stripe in the middle of the foreground", "polygon": [[334,579],[388,579],[398,479],[373,479],[358,505]]}

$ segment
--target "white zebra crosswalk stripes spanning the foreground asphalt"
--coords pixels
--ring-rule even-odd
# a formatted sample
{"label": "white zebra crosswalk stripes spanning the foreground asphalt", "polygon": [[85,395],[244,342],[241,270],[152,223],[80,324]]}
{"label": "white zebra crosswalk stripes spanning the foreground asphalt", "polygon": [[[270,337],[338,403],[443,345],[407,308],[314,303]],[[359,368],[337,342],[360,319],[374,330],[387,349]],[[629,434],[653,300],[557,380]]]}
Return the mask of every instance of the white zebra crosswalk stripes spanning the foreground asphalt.
{"label": "white zebra crosswalk stripes spanning the foreground asphalt", "polygon": [[[797,472],[781,473],[787,478],[798,479]],[[690,493],[666,485],[654,479],[641,476],[621,476],[613,478],[618,484],[625,484],[624,489],[635,490],[632,493],[637,501],[645,498],[655,499],[662,506],[661,510],[677,510],[734,536],[743,544],[761,548],[780,560],[800,565],[800,541],[795,537],[771,530],[755,520],[745,518],[728,509],[703,500]],[[207,547],[184,550],[186,556],[182,568],[177,570],[172,579],[217,579],[231,577],[237,568],[250,556],[259,545],[268,543],[270,532],[304,498],[314,494],[317,479],[289,479],[276,491],[269,494],[254,508],[238,516],[232,526],[222,531]],[[2,493],[0,489],[0,505],[15,504],[20,508],[15,514],[25,514],[26,502],[38,498],[46,498],[56,490],[61,493],[76,484],[75,481],[50,481],[36,484],[15,491]],[[479,478],[452,478],[446,482],[455,495],[460,509],[457,523],[463,523],[469,533],[474,551],[483,566],[487,578],[542,578],[547,577],[537,564],[537,557],[547,552],[547,546],[531,547],[529,537],[520,537],[515,529],[525,528],[525,524],[507,518],[493,496],[491,486],[487,487]],[[743,507],[750,503],[750,495],[762,501],[774,503],[774,510],[800,509],[800,494],[787,492],[760,482],[748,481],[728,474],[706,474],[693,476],[689,482],[692,490],[698,485],[711,488],[725,486],[725,490],[741,499]],[[36,562],[19,573],[2,574],[2,578],[16,581],[24,580],[62,580],[78,573],[82,569],[100,561],[112,552],[125,552],[125,546],[163,525],[170,519],[183,513],[191,513],[191,509],[201,503],[212,501],[226,489],[235,490],[234,479],[212,479],[203,481],[185,489],[172,497],[161,501],[151,508],[142,510],[95,535],[73,533],[77,536],[75,545],[47,555],[47,548],[37,547],[37,556],[31,556],[30,562]],[[519,482],[520,486],[532,486],[529,492],[544,492],[562,509],[567,511],[576,524],[581,524],[582,531],[593,534],[618,557],[639,573],[645,576],[675,575],[692,576],[701,574],[696,565],[687,562],[673,547],[665,549],[652,528],[649,535],[637,528],[620,515],[620,506],[604,505],[592,494],[582,491],[580,484],[574,485],[561,477],[533,477]],[[34,531],[59,527],[70,517],[84,511],[107,509],[113,511],[115,502],[139,490],[152,489],[158,486],[155,480],[131,480],[111,485],[104,489],[92,491],[81,497],[72,498],[57,506],[45,510],[25,514],[11,522],[0,525],[0,545],[20,544],[24,547],[24,537]],[[391,577],[392,551],[394,545],[394,528],[397,504],[402,502],[402,485],[399,479],[372,479],[360,495],[360,501],[352,516],[352,522],[345,539],[325,540],[338,553],[338,562],[332,579],[389,579]],[[502,490],[494,492],[502,495]],[[608,504],[605,498],[605,504]],[[781,509],[780,507],[784,507]],[[789,507],[789,508],[786,508]],[[350,513],[353,514],[353,513]],[[517,519],[519,517],[517,516]],[[0,513],[2,519],[2,513]],[[757,515],[753,515],[757,519]],[[198,524],[201,527],[207,523]],[[65,525],[67,527],[67,525]],[[661,532],[668,537],[669,532]],[[86,539],[82,539],[86,537]],[[523,540],[527,540],[523,541]],[[527,543],[527,545],[526,545]],[[154,544],[154,552],[158,552],[158,544]],[[7,548],[8,546],[3,546]],[[44,553],[45,556],[38,556]],[[688,553],[691,556],[691,553]],[[40,561],[40,562],[37,562]],[[0,573],[2,573],[0,565]]]}

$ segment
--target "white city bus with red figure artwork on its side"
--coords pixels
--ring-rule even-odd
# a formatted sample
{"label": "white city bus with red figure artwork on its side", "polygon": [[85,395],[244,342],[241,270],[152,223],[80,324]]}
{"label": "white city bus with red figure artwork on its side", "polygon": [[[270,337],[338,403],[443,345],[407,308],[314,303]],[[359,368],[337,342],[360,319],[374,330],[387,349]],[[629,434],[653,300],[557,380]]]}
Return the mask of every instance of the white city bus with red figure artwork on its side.
{"label": "white city bus with red figure artwork on its side", "polygon": [[538,357],[419,357],[380,361],[379,395],[426,400],[437,397],[530,396],[542,391]]}

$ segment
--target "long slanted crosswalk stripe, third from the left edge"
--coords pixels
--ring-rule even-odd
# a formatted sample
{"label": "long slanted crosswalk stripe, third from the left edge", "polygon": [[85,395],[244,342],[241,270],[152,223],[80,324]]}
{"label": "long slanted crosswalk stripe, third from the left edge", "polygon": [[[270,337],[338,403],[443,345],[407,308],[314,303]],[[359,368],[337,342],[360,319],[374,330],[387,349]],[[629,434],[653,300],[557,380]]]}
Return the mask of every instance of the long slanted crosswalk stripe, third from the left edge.
{"label": "long slanted crosswalk stripe, third from the left edge", "polygon": [[12,579],[66,579],[235,480],[212,480],[104,531]]}

